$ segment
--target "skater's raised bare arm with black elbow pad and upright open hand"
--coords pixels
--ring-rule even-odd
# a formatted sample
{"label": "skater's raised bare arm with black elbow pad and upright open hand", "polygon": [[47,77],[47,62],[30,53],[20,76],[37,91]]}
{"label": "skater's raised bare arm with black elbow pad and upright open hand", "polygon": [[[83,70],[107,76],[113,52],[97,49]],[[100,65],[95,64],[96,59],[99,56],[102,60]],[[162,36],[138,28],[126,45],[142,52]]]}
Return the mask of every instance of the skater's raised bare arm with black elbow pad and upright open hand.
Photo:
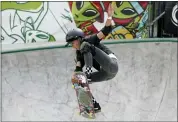
{"label": "skater's raised bare arm with black elbow pad and upright open hand", "polygon": [[112,14],[114,12],[111,4],[108,7],[108,19],[105,23],[105,26],[101,29],[101,31],[97,34],[98,39],[103,39],[112,31]]}

